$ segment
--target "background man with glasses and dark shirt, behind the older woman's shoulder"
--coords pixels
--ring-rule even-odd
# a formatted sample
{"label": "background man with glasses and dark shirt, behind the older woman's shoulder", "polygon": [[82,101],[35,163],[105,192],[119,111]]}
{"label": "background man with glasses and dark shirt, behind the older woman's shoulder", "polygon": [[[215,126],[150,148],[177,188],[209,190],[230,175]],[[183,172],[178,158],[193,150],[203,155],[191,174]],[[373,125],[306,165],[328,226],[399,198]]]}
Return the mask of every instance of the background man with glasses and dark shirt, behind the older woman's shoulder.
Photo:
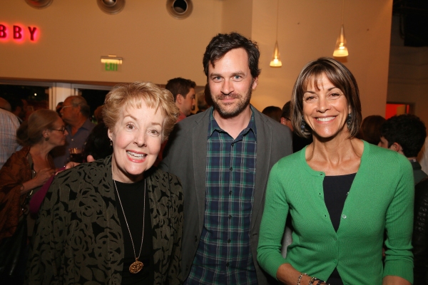
{"label": "background man with glasses and dark shirt, behind the older woman's shoulder", "polygon": [[91,113],[89,105],[82,96],[68,96],[61,108],[61,118],[66,123],[68,135],[67,143],[63,147],[56,147],[52,152],[56,167],[63,167],[70,161],[70,149],[83,151],[88,135],[95,125],[89,119]]}

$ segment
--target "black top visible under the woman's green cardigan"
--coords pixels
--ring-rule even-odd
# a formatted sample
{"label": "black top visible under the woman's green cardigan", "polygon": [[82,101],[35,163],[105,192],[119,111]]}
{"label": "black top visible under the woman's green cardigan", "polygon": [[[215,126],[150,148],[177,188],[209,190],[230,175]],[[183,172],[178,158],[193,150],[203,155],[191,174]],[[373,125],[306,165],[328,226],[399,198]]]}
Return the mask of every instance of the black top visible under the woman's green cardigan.
{"label": "black top visible under the woman's green cardigan", "polygon": [[[350,192],[356,174],[326,176],[324,178],[322,185],[324,187],[324,202],[336,232],[339,229],[340,216],[345,206],[346,197],[348,192]],[[331,285],[343,285],[342,278],[336,268],[330,275],[327,283]]]}

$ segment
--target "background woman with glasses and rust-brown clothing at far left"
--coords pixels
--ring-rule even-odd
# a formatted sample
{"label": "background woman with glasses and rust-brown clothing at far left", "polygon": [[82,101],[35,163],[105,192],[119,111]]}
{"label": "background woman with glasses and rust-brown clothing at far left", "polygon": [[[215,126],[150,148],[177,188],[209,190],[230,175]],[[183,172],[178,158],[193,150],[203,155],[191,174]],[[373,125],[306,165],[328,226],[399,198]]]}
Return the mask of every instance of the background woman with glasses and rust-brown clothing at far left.
{"label": "background woman with glasses and rust-brown clothing at far left", "polygon": [[[0,170],[0,241],[14,235],[19,220],[29,211],[30,197],[54,175],[56,169],[49,152],[66,143],[66,134],[63,120],[55,111],[46,109],[36,110],[17,130],[18,141],[24,147],[14,152]],[[30,239],[34,222],[34,217],[28,215]],[[25,263],[25,256],[21,256],[18,268],[24,269]],[[24,271],[3,278],[2,282],[10,278],[12,284],[21,284]]]}

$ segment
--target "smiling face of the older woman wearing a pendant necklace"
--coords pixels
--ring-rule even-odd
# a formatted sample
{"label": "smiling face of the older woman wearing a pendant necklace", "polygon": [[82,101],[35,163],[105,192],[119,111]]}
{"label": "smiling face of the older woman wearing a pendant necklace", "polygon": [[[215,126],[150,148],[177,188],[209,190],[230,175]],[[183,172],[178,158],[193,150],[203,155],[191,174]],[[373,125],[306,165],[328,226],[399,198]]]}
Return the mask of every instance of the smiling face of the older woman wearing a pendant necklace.
{"label": "smiling face of the older woman wearing a pendant necklace", "polygon": [[113,180],[124,183],[143,179],[143,172],[152,167],[161,150],[164,116],[160,110],[124,107],[108,138],[113,142],[111,168]]}

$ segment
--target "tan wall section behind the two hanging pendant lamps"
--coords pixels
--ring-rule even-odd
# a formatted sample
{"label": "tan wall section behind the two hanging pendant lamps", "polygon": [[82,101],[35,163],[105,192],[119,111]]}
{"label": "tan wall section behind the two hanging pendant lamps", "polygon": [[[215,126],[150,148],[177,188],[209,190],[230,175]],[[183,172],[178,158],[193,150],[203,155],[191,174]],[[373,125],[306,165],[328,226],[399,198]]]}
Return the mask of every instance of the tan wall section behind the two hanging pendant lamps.
{"label": "tan wall section behind the two hanging pendant lamps", "polygon": [[[262,75],[253,103],[282,107],[308,61],[332,57],[340,32],[342,1],[280,0],[278,45],[282,67],[270,68],[275,44],[276,0],[253,1],[253,38],[262,51]],[[345,66],[357,79],[362,115],[384,115],[387,97],[392,0],[345,1]]]}

